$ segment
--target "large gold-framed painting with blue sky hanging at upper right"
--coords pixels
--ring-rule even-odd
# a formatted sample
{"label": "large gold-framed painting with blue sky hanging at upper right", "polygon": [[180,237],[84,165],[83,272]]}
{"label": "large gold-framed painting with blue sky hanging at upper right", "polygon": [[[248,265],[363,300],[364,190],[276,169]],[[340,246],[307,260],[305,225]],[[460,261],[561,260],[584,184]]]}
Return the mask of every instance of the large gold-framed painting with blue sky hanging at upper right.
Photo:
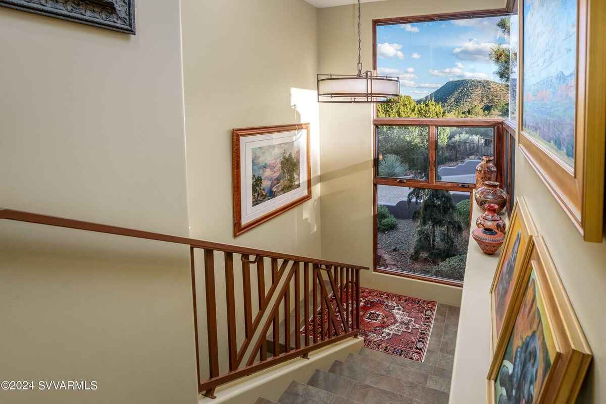
{"label": "large gold-framed painting with blue sky hanging at upper right", "polygon": [[520,7],[520,150],[585,241],[599,243],[606,3],[521,0]]}

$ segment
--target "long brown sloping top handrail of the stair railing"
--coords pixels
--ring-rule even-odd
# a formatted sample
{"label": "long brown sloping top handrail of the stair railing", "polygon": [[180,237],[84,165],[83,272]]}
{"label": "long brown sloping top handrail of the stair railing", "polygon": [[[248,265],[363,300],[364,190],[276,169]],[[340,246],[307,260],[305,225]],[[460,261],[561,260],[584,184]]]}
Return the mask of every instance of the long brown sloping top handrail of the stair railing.
{"label": "long brown sloping top handrail of the stair railing", "polygon": [[21,210],[12,210],[0,208],[0,219],[24,221],[27,223],[46,224],[48,226],[66,227],[68,229],[87,230],[96,233],[108,233],[120,236],[144,238],[148,240],[165,241],[167,243],[187,244],[197,249],[220,250],[224,252],[238,253],[243,255],[261,255],[267,258],[288,259],[289,261],[311,262],[313,264],[330,265],[338,267],[348,267],[368,270],[368,267],[362,267],[343,262],[325,261],[306,256],[290,255],[277,253],[267,250],[251,249],[248,247],[233,246],[231,244],[214,243],[195,238],[182,236],[173,236],[162,233],[145,232],[143,230],[128,229],[127,227],[109,226],[107,224],[98,224],[81,220],[72,220],[56,216],[41,215],[39,213],[22,212]]}

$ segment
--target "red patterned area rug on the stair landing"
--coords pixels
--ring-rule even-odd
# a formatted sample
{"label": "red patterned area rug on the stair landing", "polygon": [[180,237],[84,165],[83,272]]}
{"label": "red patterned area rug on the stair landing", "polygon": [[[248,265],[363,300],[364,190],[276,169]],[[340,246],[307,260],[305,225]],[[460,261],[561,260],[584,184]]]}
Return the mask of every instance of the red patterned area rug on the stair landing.
{"label": "red patterned area rug on the stair landing", "polygon": [[[330,300],[335,301],[333,295],[330,296]],[[339,310],[336,307],[334,310],[335,317],[340,322]],[[423,362],[435,314],[434,301],[360,288],[359,335],[364,338],[366,348]],[[348,317],[348,322],[351,324],[351,308]],[[319,333],[321,321],[319,310],[315,318],[316,331]],[[324,307],[324,318],[327,318],[326,307]],[[313,318],[310,318],[309,327],[312,334]],[[305,327],[301,329],[301,333],[305,333]]]}

